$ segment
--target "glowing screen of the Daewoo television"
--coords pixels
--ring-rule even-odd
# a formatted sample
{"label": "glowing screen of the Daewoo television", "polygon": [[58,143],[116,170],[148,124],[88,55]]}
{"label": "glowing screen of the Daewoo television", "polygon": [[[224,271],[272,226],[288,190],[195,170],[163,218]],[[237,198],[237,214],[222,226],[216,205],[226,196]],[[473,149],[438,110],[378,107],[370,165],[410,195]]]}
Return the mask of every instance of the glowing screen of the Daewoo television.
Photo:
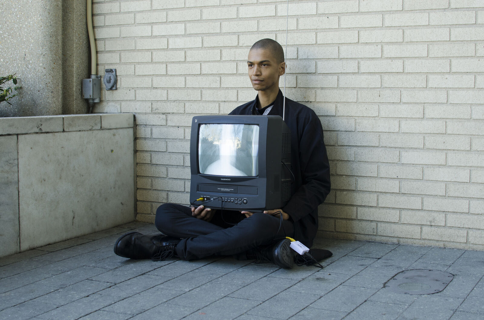
{"label": "glowing screen of the Daewoo television", "polygon": [[257,176],[259,126],[202,124],[198,138],[198,168],[204,175]]}

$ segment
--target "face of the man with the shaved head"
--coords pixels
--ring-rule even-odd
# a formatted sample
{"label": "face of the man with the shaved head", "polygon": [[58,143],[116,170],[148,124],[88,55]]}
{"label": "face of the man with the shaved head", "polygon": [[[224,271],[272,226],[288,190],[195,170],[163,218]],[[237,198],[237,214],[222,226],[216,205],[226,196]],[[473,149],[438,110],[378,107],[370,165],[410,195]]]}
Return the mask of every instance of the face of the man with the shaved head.
{"label": "face of the man with the shaved head", "polygon": [[255,90],[279,88],[279,77],[284,74],[285,63],[277,63],[267,49],[252,49],[247,58],[249,78]]}

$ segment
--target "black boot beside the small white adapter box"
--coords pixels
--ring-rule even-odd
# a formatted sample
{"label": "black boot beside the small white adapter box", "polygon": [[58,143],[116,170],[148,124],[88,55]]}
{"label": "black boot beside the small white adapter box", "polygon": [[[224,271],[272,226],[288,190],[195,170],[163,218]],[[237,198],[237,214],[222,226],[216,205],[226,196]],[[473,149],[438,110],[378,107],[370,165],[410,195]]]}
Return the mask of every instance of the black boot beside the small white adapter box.
{"label": "black boot beside the small white adapter box", "polygon": [[289,247],[288,239],[264,247],[256,247],[247,251],[247,259],[255,259],[257,262],[270,261],[281,268],[292,268],[294,254]]}

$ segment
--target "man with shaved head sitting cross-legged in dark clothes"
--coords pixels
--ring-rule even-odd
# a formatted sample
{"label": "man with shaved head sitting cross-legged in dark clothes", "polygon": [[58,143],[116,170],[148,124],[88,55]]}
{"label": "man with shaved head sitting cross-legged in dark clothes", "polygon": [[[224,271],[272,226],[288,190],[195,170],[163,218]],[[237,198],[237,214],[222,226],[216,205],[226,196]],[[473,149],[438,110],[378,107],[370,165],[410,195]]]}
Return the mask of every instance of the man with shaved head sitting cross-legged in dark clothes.
{"label": "man with shaved head sitting cross-legged in dark clothes", "polygon": [[[247,59],[249,78],[256,99],[242,104],[230,115],[283,116],[279,77],[286,71],[284,52],[271,39],[257,41]],[[330,192],[330,168],[323,130],[318,116],[307,106],[286,98],[285,122],[291,138],[293,194],[283,208],[263,213],[162,204],[155,225],[163,235],[127,233],[114,252],[132,259],[182,260],[212,255],[237,259],[269,260],[280,267],[293,266],[294,256],[286,236],[310,247],[318,231],[318,205]],[[282,225],[280,216],[282,215]],[[227,221],[227,219],[229,219]]]}

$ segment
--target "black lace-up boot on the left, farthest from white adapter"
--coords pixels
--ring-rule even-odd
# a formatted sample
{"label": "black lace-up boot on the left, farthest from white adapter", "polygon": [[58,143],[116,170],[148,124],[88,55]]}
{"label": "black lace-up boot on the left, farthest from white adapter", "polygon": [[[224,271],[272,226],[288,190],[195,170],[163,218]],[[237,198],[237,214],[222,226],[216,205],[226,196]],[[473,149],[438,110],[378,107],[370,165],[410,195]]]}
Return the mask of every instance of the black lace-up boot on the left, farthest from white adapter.
{"label": "black lace-up boot on the left, farthest from white adapter", "polygon": [[168,237],[162,234],[147,235],[139,232],[130,232],[121,235],[114,243],[114,253],[118,256],[130,259],[151,259],[160,252],[171,251],[166,253],[163,259],[159,257],[157,261],[167,258],[176,257],[176,245],[180,239]]}

